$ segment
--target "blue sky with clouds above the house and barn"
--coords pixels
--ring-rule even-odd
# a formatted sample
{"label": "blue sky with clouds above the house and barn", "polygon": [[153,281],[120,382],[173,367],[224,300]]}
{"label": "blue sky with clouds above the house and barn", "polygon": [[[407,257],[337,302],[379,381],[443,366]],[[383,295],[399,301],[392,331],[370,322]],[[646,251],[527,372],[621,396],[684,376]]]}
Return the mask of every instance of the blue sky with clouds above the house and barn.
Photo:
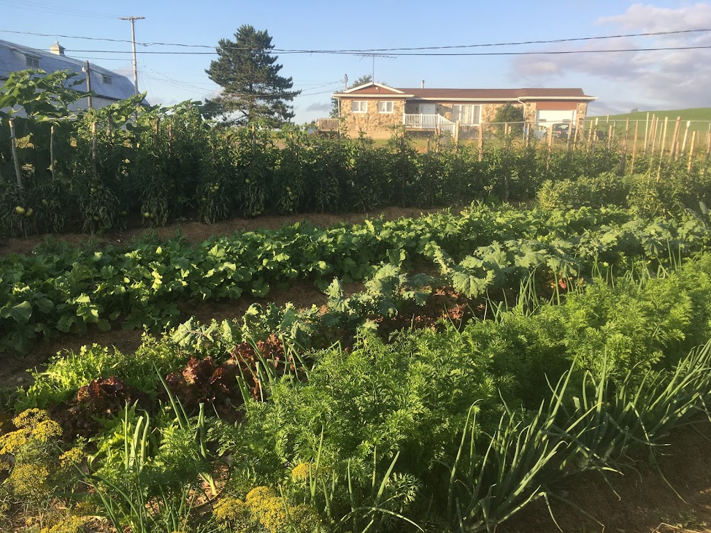
{"label": "blue sky with clouds above the house and barn", "polygon": [[[274,52],[281,74],[301,90],[293,102],[297,124],[327,117],[344,76],[365,74],[392,87],[419,87],[422,80],[431,88],[582,87],[597,97],[593,115],[711,106],[711,31],[498,45],[711,30],[710,1],[0,0],[0,39],[42,49],[58,39],[66,55],[132,77],[131,25],[122,16],[145,17],[135,23],[137,63],[139,90],[151,104],[218,94],[205,73],[217,58],[214,47],[250,24],[267,30],[277,49],[308,51]],[[501,55],[315,51],[450,46],[469,48],[418,53]],[[579,53],[640,48],[688,49]]]}

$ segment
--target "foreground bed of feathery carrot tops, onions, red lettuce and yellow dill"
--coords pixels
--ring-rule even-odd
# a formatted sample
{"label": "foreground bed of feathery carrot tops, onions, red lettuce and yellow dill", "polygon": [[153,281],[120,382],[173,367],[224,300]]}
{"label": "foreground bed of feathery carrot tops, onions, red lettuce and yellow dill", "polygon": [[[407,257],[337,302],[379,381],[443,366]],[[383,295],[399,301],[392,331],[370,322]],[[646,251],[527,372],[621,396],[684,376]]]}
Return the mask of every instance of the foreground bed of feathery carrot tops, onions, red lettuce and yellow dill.
{"label": "foreground bed of feathery carrot tops, onions, red lettuce and yellow dill", "polygon": [[294,336],[308,316],[253,308],[135,354],[58,357],[0,437],[0,491],[33,509],[82,501],[48,526],[477,532],[563,478],[654,456],[705,409],[710,255],[534,311],[314,352]]}

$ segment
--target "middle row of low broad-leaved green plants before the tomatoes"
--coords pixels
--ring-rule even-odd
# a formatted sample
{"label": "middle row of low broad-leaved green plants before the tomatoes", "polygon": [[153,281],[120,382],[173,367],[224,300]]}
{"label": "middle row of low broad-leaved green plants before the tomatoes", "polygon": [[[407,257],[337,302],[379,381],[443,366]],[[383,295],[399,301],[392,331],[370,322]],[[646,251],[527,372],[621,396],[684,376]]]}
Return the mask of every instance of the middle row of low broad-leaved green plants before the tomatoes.
{"label": "middle row of low broad-leaved green plants before the tomatoes", "polygon": [[539,281],[589,277],[634,259],[668,264],[706,244],[707,227],[691,217],[645,221],[619,209],[481,206],[326,230],[238,232],[195,247],[180,238],[102,249],[50,242],[30,256],[0,259],[0,352],[26,352],[37,336],[82,334],[90,324],[156,330],[174,323],[178,301],[266,296],[271,286],[298,278],[326,289],[334,278],[368,279],[383,263],[408,269],[424,261],[476,298],[518,288],[532,272]]}

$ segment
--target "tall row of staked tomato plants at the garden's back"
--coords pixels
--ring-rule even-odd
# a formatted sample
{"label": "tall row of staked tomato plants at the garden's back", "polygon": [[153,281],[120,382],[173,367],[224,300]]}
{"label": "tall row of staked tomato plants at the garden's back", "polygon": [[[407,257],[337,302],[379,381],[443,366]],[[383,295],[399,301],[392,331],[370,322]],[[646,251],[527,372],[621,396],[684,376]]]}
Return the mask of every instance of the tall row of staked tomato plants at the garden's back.
{"label": "tall row of staked tomato plants at the garden's back", "polygon": [[[186,218],[210,223],[264,213],[461,205],[488,198],[525,201],[535,198],[545,180],[616,176],[623,170],[624,157],[615,149],[550,154],[535,143],[518,146],[511,139],[488,146],[481,158],[471,147],[437,143],[422,154],[402,132],[382,147],[365,138],[322,139],[289,126],[275,139],[259,126],[225,129],[205,121],[198,102],[146,107],[135,97],[69,112],[79,93],[65,85],[62,72],[44,77],[23,72],[0,89],[0,109],[26,113],[0,112],[0,232],[5,235],[97,232]],[[706,167],[697,163],[687,171],[685,163],[666,158],[638,157],[635,163],[636,173],[658,177],[661,172],[665,182],[675,183],[683,198],[657,195],[658,202],[674,208],[711,200]],[[655,190],[658,182],[651,182]]]}

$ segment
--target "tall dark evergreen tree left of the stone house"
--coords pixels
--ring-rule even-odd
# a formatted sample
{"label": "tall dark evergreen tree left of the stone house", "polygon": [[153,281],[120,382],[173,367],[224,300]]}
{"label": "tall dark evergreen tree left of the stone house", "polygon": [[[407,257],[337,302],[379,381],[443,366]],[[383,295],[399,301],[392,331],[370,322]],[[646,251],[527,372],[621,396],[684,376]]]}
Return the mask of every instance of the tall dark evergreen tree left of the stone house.
{"label": "tall dark evergreen tree left of the stone house", "polygon": [[[232,124],[247,124],[262,119],[269,126],[280,126],[294,117],[291,102],[300,91],[292,91],[291,77],[282,77],[277,56],[266,30],[256,31],[249,24],[240,26],[236,41],[220,39],[218,60],[205,70],[223,92],[205,102],[205,112],[222,115]],[[215,111],[217,109],[218,111]]]}

